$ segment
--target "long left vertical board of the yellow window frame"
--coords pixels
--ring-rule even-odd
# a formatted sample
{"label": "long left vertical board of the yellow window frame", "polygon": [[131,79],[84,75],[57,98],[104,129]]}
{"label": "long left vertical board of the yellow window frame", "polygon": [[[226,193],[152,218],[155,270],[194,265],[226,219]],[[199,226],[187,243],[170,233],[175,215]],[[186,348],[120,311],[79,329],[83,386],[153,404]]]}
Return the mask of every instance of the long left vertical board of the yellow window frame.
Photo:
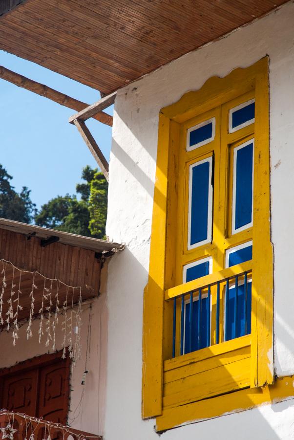
{"label": "long left vertical board of the yellow window frame", "polygon": [[158,155],[154,188],[148,285],[144,292],[142,417],[162,412],[163,301],[166,262],[169,125],[159,115]]}

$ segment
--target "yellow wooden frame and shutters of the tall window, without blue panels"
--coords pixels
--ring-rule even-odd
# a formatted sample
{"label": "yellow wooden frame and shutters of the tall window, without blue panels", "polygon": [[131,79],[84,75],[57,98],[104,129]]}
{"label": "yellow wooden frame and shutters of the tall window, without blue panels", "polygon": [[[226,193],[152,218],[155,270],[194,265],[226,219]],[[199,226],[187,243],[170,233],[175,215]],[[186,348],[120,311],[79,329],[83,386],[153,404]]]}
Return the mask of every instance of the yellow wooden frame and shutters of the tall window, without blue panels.
{"label": "yellow wooden frame and shutters of the tall window, without blue panels", "polygon": [[[162,379],[163,379],[163,360],[168,359],[171,353],[171,317],[173,301],[166,301],[182,293],[188,293],[190,290],[207,286],[210,283],[220,281],[223,278],[237,275],[244,270],[252,268],[252,335],[246,336],[247,344],[251,340],[251,360],[242,374],[250,376],[250,385],[256,387],[263,384],[273,382],[273,254],[270,242],[270,182],[269,182],[269,114],[268,114],[268,59],[262,59],[255,65],[241,69],[238,68],[230,73],[226,78],[210,78],[205,85],[198,91],[189,92],[180,99],[178,103],[173,104],[162,110],[159,121],[159,142],[158,142],[158,158],[157,173],[154,193],[154,206],[152,218],[151,247],[150,247],[150,269],[148,288],[144,298],[144,331],[143,331],[143,405],[142,414],[144,418],[157,417],[157,429],[163,430],[184,423],[195,418],[195,414],[199,418],[216,417],[223,413],[223,408],[227,411],[234,411],[240,408],[250,395],[252,401],[259,402],[260,392],[256,389],[236,391],[235,393],[225,394],[224,396],[212,397],[200,402],[182,405],[172,409],[163,409],[162,416]],[[247,94],[247,95],[245,95]],[[244,102],[245,96],[253,96],[255,94],[255,124],[245,127],[235,133],[228,133],[228,112],[226,106],[232,107],[239,102]],[[246,99],[245,99],[246,100]],[[236,103],[236,104],[235,104]],[[212,109],[212,110],[211,110]],[[213,224],[213,240],[207,245],[201,246],[192,251],[187,251],[185,243],[187,243],[186,220],[183,217],[187,205],[187,162],[197,159],[204,154],[211,154],[211,145],[207,144],[193,152],[185,152],[186,146],[186,130],[195,125],[195,121],[201,120],[203,113],[211,112],[221,114],[220,118],[216,117],[216,127],[218,127],[217,119],[220,119],[221,128],[220,136],[216,136],[213,149],[215,155],[214,169],[214,224]],[[191,122],[192,121],[192,122]],[[216,131],[218,128],[216,129]],[[255,149],[254,149],[254,197],[253,197],[253,227],[246,231],[230,235],[230,148],[236,142],[241,142],[254,132]],[[220,140],[220,144],[218,142]],[[219,155],[218,155],[219,148]],[[197,151],[198,150],[198,151]],[[194,155],[195,154],[195,155]],[[169,166],[168,166],[169,163]],[[174,167],[174,171],[171,168]],[[170,168],[170,169],[169,169]],[[169,170],[169,171],[168,171]],[[168,174],[169,172],[169,174]],[[179,176],[179,178],[177,177]],[[216,186],[218,189],[216,189]],[[218,193],[217,193],[218,191]],[[178,203],[181,203],[181,206]],[[177,214],[176,214],[177,213]],[[169,232],[170,231],[170,232]],[[183,239],[184,237],[184,239]],[[228,248],[241,244],[243,242],[253,240],[253,257],[252,262],[246,262],[237,268],[237,266],[224,269],[225,252]],[[182,283],[182,267],[200,258],[211,255],[213,258],[213,274],[203,277],[202,281],[195,280],[190,283],[181,285]],[[201,283],[201,284],[199,284]],[[179,285],[178,285],[179,284]],[[213,288],[212,288],[213,292]],[[212,316],[215,316],[215,293],[212,293]],[[177,341],[176,356],[179,354],[179,314],[180,300],[177,301]],[[220,316],[223,317],[223,290],[221,289],[221,311]],[[222,318],[220,319],[222,323]],[[222,325],[222,324],[221,324]],[[223,328],[220,330],[220,338],[222,341]],[[170,340],[168,337],[170,336]],[[212,343],[215,341],[215,329],[211,329]],[[245,337],[244,337],[245,338]],[[210,347],[213,350],[222,344],[232,343],[237,347],[237,341],[242,338],[221,343],[217,346]],[[244,341],[243,341],[244,342]],[[164,345],[164,348],[163,348]],[[248,345],[244,346],[248,347]],[[240,348],[241,349],[241,348]],[[204,349],[208,350],[208,349]],[[197,354],[189,353],[187,355],[177,357],[176,359],[166,360],[164,368],[168,365],[179,365],[170,368],[173,374],[179,377],[178,382],[186,380],[184,377],[180,379],[178,370],[185,362],[194,362],[197,365],[197,356],[201,356],[200,350]],[[232,349],[234,350],[234,348]],[[217,354],[215,355],[217,356]],[[182,360],[179,360],[182,358]],[[207,357],[209,362],[212,357]],[[246,358],[249,362],[249,357]],[[172,364],[174,362],[174,364]],[[182,364],[181,364],[182,362]],[[243,386],[245,379],[237,379],[239,370],[236,370],[237,362],[245,362],[244,359],[232,362],[228,365],[230,369],[230,378],[226,375],[226,366],[220,365],[214,370],[214,386],[218,389],[218,379],[221,378],[222,393],[235,390],[231,385],[231,390],[225,391],[225,383],[228,378],[229,382],[235,379],[235,386]],[[199,361],[198,361],[199,363]],[[183,365],[182,367],[180,365]],[[184,367],[185,369],[186,367]],[[189,367],[192,370],[192,367]],[[195,367],[197,371],[197,367]],[[201,374],[206,374],[202,372]],[[235,375],[235,377],[234,377]],[[185,376],[186,377],[186,376]],[[193,379],[188,379],[194,377]],[[187,396],[190,401],[195,400],[195,396],[201,386],[197,385],[199,374],[191,374],[187,376],[186,382],[192,381],[192,389],[194,397]],[[248,379],[248,376],[247,376]],[[247,380],[246,379],[246,380]],[[242,382],[243,381],[243,382]],[[176,381],[172,381],[176,382]],[[170,383],[172,383],[170,382]],[[207,396],[211,396],[213,384],[209,386],[207,383]],[[246,382],[247,383],[247,382]],[[242,385],[243,384],[243,385]],[[191,385],[191,384],[190,384]],[[187,386],[187,392],[191,388]],[[248,383],[247,385],[248,386]],[[186,398],[186,391],[181,390],[180,385],[175,385],[174,395],[180,396],[178,393],[184,393],[180,399]],[[274,389],[275,390],[275,389]],[[288,390],[288,388],[287,388]],[[204,392],[203,392],[204,393]],[[212,394],[210,394],[212,393]],[[258,394],[259,393],[259,394]],[[240,398],[238,397],[240,396]],[[203,397],[206,397],[203,394]],[[168,398],[165,397],[165,398]],[[243,399],[243,400],[242,400]],[[177,405],[176,401],[168,404]],[[183,403],[183,400],[181,400]],[[214,402],[218,402],[214,406]],[[242,403],[243,402],[243,403]],[[179,401],[180,403],[180,401]],[[167,404],[167,401],[164,401]],[[253,403],[254,405],[255,403]],[[257,403],[258,404],[258,403]],[[210,406],[211,405],[211,406]],[[193,409],[190,409],[193,408]],[[185,409],[185,410],[184,410]],[[199,411],[198,411],[199,410]],[[202,414],[202,416],[201,416]],[[211,416],[210,416],[211,414]],[[192,415],[192,416],[191,416]]]}

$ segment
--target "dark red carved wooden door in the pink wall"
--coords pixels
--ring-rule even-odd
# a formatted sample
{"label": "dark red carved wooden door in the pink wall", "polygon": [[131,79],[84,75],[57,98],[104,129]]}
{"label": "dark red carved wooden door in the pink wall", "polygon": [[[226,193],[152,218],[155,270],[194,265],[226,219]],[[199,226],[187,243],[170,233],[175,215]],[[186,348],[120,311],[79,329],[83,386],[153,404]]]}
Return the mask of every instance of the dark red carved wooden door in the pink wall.
{"label": "dark red carved wooden door in the pink wall", "polygon": [[0,371],[0,408],[66,424],[69,360],[43,355]]}

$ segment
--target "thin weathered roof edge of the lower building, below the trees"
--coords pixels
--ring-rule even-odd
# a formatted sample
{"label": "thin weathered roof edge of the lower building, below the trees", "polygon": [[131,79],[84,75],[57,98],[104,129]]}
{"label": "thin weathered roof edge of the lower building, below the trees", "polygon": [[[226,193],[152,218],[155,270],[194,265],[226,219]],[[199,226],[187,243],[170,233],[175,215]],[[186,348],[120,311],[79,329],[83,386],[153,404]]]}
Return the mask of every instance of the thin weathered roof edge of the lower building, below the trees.
{"label": "thin weathered roof edge of the lower building, below the trees", "polygon": [[84,249],[89,249],[102,254],[108,252],[118,252],[125,248],[124,244],[107,242],[106,240],[99,240],[92,237],[84,237],[83,235],[57,231],[56,229],[42,228],[41,226],[21,223],[21,221],[15,220],[6,220],[0,218],[0,229],[17,232],[19,234],[27,235],[28,237],[38,237],[42,240],[57,237],[59,243],[82,247]]}

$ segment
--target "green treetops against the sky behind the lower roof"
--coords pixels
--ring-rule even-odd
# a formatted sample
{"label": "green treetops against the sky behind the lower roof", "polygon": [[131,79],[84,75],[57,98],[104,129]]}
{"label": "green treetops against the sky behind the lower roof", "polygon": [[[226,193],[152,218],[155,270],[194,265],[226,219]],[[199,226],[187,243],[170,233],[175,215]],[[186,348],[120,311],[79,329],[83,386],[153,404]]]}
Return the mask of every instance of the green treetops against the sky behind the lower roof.
{"label": "green treetops against the sky behind the lower roof", "polygon": [[97,168],[86,166],[82,171],[82,183],[76,185],[77,195],[57,196],[41,206],[30,198],[30,190],[24,186],[18,194],[11,186],[10,176],[0,165],[0,217],[24,223],[35,221],[43,226],[72,234],[105,238],[108,184]]}

